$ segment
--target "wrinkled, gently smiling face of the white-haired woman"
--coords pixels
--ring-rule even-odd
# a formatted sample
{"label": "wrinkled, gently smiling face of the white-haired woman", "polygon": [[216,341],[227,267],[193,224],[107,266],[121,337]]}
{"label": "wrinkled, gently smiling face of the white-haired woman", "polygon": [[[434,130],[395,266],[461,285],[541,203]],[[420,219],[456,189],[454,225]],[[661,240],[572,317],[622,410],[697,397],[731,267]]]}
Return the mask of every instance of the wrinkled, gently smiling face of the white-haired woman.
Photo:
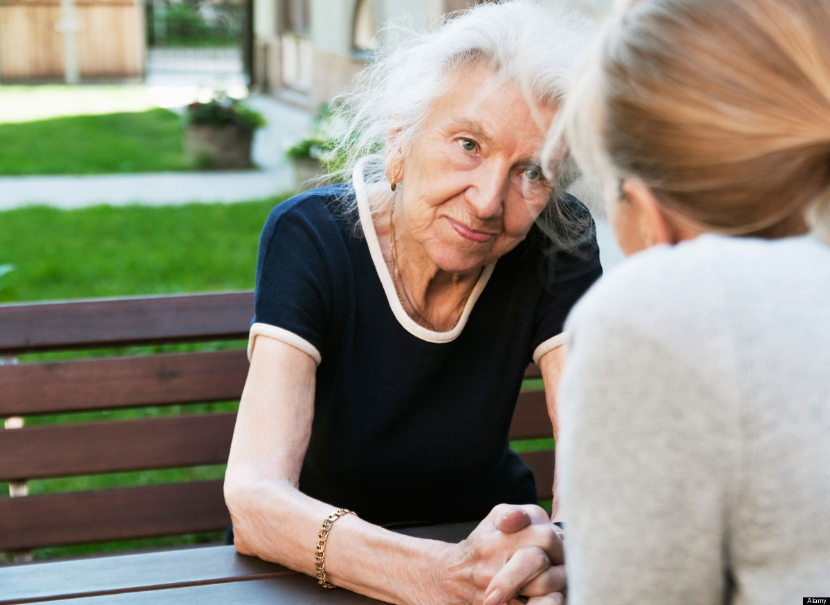
{"label": "wrinkled, gently smiling face of the white-haired woman", "polygon": [[539,154],[554,110],[531,108],[486,66],[451,81],[413,152],[388,165],[403,184],[400,229],[440,269],[465,273],[512,250],[548,202]]}

